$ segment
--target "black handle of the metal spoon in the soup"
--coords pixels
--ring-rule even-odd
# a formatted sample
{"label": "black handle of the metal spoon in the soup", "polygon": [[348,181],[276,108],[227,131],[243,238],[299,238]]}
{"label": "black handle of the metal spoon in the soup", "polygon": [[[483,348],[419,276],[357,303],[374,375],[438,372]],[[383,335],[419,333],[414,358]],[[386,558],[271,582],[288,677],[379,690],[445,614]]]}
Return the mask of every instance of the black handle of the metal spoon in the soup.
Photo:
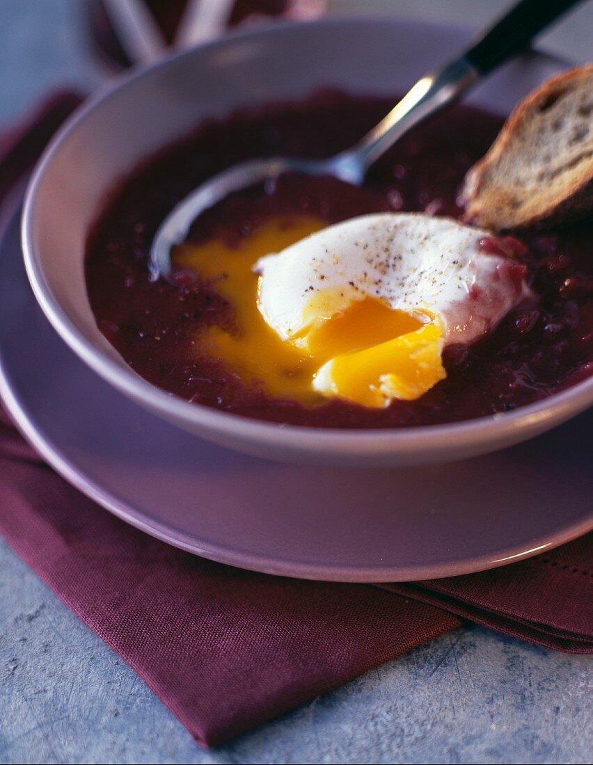
{"label": "black handle of the metal spoon in the soup", "polygon": [[552,21],[582,0],[521,0],[481,36],[465,54],[466,60],[487,74],[504,60],[520,53]]}

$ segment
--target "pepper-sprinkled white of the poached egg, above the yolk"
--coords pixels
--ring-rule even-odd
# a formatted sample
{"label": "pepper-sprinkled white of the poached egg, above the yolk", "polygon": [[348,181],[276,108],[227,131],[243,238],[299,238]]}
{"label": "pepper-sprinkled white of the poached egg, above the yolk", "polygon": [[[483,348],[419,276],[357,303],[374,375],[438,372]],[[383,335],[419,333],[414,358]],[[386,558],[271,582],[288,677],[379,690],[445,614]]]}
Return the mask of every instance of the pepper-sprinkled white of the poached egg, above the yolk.
{"label": "pepper-sprinkled white of the poached egg, above the yolk", "polygon": [[260,258],[259,311],[283,340],[298,342],[315,321],[353,301],[378,298],[440,323],[445,345],[471,343],[529,293],[484,252],[484,229],[422,213],[378,213],[337,223]]}

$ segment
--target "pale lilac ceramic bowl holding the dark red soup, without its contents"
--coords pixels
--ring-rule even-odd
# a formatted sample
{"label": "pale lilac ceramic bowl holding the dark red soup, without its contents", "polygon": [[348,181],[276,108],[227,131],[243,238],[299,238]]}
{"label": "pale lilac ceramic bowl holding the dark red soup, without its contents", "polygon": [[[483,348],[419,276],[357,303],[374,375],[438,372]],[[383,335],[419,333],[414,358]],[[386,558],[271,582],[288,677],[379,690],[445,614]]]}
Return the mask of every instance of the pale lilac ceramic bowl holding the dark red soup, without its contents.
{"label": "pale lilac ceramic bowl holding the dark red soup, without its contents", "polygon": [[[401,466],[452,461],[515,444],[593,402],[593,379],[545,402],[452,425],[348,431],[274,425],[190,404],[129,368],[96,327],[86,296],[86,234],[105,194],[200,120],[239,106],[298,99],[323,86],[388,95],[406,90],[468,34],[386,18],[278,24],[231,34],[116,81],[78,109],[39,164],[24,210],[24,256],[37,300],[57,332],[99,375],[138,404],[200,438],[284,461]],[[559,70],[552,58],[516,60],[471,103],[507,113]]]}

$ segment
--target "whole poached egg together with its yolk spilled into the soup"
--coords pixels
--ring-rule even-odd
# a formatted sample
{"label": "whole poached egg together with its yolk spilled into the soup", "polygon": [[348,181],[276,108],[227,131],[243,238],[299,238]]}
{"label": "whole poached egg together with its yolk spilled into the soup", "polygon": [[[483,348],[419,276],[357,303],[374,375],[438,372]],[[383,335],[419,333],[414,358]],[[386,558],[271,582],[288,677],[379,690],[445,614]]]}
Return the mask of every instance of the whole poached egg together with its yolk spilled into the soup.
{"label": "whole poached egg together with its yolk spilled into the soup", "polygon": [[380,408],[422,396],[446,375],[446,345],[474,342],[528,294],[512,254],[455,220],[380,213],[272,219],[238,244],[185,243],[174,260],[232,313],[204,324],[196,353],[271,396]]}

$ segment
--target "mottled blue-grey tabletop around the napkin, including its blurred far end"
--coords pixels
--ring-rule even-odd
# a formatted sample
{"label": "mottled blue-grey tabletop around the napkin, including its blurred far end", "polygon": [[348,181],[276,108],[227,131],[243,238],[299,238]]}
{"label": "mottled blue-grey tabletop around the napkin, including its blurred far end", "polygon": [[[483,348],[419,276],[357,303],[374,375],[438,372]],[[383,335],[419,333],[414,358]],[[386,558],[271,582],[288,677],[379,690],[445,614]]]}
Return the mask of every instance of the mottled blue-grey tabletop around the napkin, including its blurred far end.
{"label": "mottled blue-grey tabletop around the napkin, including its blurred far end", "polygon": [[[331,10],[354,5],[334,0]],[[477,26],[505,2],[362,5]],[[590,59],[591,5],[546,43]],[[0,126],[51,86],[99,80],[82,9],[83,0],[0,0]],[[0,541],[2,763],[585,763],[591,685],[586,656],[464,627],[204,751]]]}

